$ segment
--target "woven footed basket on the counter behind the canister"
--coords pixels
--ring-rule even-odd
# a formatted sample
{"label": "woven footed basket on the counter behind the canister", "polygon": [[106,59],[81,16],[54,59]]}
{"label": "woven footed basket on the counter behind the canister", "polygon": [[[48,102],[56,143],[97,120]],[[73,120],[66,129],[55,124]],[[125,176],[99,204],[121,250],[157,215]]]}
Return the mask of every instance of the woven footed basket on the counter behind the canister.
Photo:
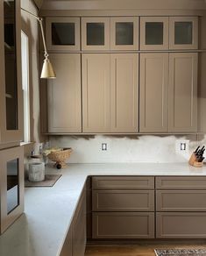
{"label": "woven footed basket on the counter behind the canister", "polygon": [[71,153],[72,153],[71,148],[63,148],[63,150],[49,153],[47,157],[49,158],[49,160],[52,160],[53,162],[55,162],[54,164],[55,167],[61,168],[61,167],[67,167],[67,164],[65,161],[69,159]]}

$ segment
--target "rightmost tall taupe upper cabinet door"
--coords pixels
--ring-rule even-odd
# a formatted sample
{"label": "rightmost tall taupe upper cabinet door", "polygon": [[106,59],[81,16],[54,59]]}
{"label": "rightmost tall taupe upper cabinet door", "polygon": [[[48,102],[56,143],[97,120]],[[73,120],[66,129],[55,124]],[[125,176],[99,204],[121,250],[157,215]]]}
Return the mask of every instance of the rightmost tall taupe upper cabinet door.
{"label": "rightmost tall taupe upper cabinet door", "polygon": [[197,53],[169,54],[169,132],[197,130]]}

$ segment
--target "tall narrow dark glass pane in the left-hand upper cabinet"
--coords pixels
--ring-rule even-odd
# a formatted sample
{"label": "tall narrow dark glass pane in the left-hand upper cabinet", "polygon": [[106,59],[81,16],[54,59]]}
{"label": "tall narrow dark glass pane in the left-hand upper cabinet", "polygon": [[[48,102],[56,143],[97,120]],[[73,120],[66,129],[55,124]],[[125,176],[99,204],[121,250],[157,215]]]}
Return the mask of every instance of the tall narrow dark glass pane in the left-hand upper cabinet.
{"label": "tall narrow dark glass pane in the left-hand upper cabinet", "polygon": [[4,1],[6,129],[18,130],[15,0]]}

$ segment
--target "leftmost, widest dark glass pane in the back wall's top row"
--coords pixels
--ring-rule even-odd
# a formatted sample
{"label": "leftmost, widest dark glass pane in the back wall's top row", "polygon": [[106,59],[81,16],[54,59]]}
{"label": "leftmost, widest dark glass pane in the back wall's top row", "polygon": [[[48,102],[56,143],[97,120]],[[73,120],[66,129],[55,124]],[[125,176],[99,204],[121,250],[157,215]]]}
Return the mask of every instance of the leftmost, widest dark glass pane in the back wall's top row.
{"label": "leftmost, widest dark glass pane in the back wall's top row", "polygon": [[75,23],[52,23],[52,44],[75,46]]}

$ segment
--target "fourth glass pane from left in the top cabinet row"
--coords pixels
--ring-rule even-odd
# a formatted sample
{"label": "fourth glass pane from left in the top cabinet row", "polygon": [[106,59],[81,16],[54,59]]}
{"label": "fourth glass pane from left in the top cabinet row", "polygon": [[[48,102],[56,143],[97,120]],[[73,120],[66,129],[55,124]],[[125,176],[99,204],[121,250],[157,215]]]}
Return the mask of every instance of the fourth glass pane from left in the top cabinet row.
{"label": "fourth glass pane from left in the top cabinet row", "polygon": [[146,22],[146,45],[163,45],[163,22]]}

